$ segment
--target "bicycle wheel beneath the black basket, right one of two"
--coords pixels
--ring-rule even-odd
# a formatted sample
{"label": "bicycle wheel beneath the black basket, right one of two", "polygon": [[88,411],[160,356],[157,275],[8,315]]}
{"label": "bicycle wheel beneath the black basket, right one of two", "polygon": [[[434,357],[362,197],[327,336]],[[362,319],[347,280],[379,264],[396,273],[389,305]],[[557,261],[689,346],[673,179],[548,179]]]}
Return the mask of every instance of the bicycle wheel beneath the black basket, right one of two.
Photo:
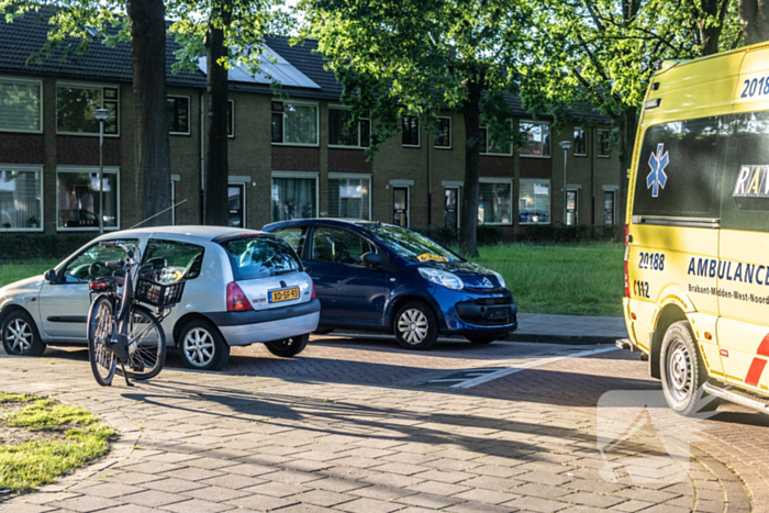
{"label": "bicycle wheel beneath the black basket, right one of two", "polygon": [[166,363],[166,333],[155,315],[138,304],[131,306],[126,335],[130,356],[125,372],[129,378],[157,376]]}

